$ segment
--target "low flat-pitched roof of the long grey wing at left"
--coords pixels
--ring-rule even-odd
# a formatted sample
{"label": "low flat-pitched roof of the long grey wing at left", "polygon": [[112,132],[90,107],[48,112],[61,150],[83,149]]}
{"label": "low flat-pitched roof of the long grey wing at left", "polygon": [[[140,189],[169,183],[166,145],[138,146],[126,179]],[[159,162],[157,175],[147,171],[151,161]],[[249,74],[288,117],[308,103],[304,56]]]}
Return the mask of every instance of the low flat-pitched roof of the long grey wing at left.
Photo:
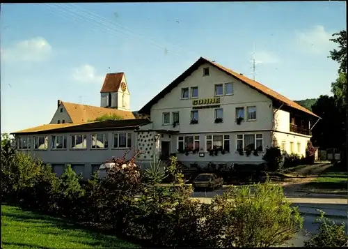
{"label": "low flat-pitched roof of the long grey wing at left", "polygon": [[144,126],[151,123],[149,119],[123,119],[123,120],[105,120],[85,123],[52,123],[43,126],[19,130],[15,135],[29,135],[37,133],[67,133],[67,132],[82,132],[91,130],[127,130],[134,129],[139,126]]}

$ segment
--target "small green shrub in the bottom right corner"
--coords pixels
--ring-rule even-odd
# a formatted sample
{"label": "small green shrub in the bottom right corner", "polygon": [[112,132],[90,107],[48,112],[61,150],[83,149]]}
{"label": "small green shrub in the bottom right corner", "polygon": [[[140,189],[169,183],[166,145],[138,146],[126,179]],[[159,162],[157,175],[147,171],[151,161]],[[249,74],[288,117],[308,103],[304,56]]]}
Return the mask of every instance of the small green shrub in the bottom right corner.
{"label": "small green shrub in the bottom right corner", "polygon": [[319,218],[315,219],[315,223],[320,223],[317,231],[319,233],[313,235],[304,246],[308,248],[326,248],[326,247],[344,247],[347,246],[348,235],[345,234],[345,224],[337,225],[333,220],[324,217],[324,212],[320,211]]}

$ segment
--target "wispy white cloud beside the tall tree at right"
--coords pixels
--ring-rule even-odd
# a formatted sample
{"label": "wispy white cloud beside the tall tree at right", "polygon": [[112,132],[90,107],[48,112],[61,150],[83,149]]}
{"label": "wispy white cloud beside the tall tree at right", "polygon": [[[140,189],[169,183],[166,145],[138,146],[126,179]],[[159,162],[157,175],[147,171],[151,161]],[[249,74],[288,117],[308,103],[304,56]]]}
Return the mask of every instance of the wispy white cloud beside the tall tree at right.
{"label": "wispy white cloud beside the tall tree at right", "polygon": [[311,54],[329,54],[329,50],[335,47],[335,44],[330,40],[332,33],[326,31],[321,25],[297,31],[296,38],[296,43],[298,43],[301,50]]}

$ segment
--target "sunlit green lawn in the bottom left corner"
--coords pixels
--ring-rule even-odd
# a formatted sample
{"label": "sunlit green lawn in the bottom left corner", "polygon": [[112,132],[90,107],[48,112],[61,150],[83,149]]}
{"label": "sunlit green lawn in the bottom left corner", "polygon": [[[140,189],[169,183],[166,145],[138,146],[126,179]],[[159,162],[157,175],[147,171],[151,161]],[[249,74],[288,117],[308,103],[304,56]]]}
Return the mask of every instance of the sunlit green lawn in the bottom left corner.
{"label": "sunlit green lawn in the bottom left corner", "polygon": [[1,248],[140,248],[65,220],[1,205]]}

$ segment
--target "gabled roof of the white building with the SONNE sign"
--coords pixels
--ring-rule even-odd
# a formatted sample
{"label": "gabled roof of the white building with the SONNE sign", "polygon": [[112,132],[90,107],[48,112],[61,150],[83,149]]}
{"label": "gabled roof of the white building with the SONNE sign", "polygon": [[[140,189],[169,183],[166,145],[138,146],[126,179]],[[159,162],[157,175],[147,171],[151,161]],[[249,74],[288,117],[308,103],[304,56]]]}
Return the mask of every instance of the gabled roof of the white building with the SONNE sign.
{"label": "gabled roof of the white building with the SONNE sign", "polygon": [[251,88],[259,91],[260,93],[262,93],[266,96],[268,96],[272,100],[277,100],[282,104],[285,104],[285,105],[292,107],[296,110],[306,112],[312,116],[316,116],[319,118],[319,116],[317,116],[313,112],[310,112],[310,110],[307,110],[305,107],[302,107],[301,105],[286,98],[285,96],[281,95],[280,93],[277,93],[276,91],[273,91],[272,89],[269,89],[267,86],[264,86],[263,84],[261,84],[259,82],[255,82],[254,80],[251,80],[248,77],[245,77],[244,75],[241,75],[239,73],[235,73],[234,71],[232,71],[228,68],[225,68],[224,66],[221,66],[220,64],[218,64],[214,61],[210,61],[209,59],[205,59],[203,57],[200,57],[200,59],[198,59],[195,63],[193,63],[192,66],[190,66],[186,71],[184,71],[184,73],[182,73],[173,82],[171,82],[171,84],[168,84],[168,86],[166,86],[166,88],[164,88],[161,92],[159,92],[157,94],[157,96],[152,98],[152,100],[150,100],[146,105],[144,105],[144,107],[142,107],[141,110],[139,110],[139,113],[149,114],[152,105],[155,105],[155,103],[157,103],[161,98],[164,98],[164,96],[166,96],[167,93],[169,93],[171,90],[173,90],[178,84],[180,84],[180,82],[182,82],[186,77],[191,75],[191,73],[193,73],[194,70],[197,70],[199,66],[203,65],[203,63],[210,63],[212,66],[215,66],[216,68],[219,68],[220,70],[223,70],[223,72],[227,73],[228,75],[231,75],[232,77],[235,77],[237,80],[240,80],[241,82],[244,82],[245,84],[247,84]]}

